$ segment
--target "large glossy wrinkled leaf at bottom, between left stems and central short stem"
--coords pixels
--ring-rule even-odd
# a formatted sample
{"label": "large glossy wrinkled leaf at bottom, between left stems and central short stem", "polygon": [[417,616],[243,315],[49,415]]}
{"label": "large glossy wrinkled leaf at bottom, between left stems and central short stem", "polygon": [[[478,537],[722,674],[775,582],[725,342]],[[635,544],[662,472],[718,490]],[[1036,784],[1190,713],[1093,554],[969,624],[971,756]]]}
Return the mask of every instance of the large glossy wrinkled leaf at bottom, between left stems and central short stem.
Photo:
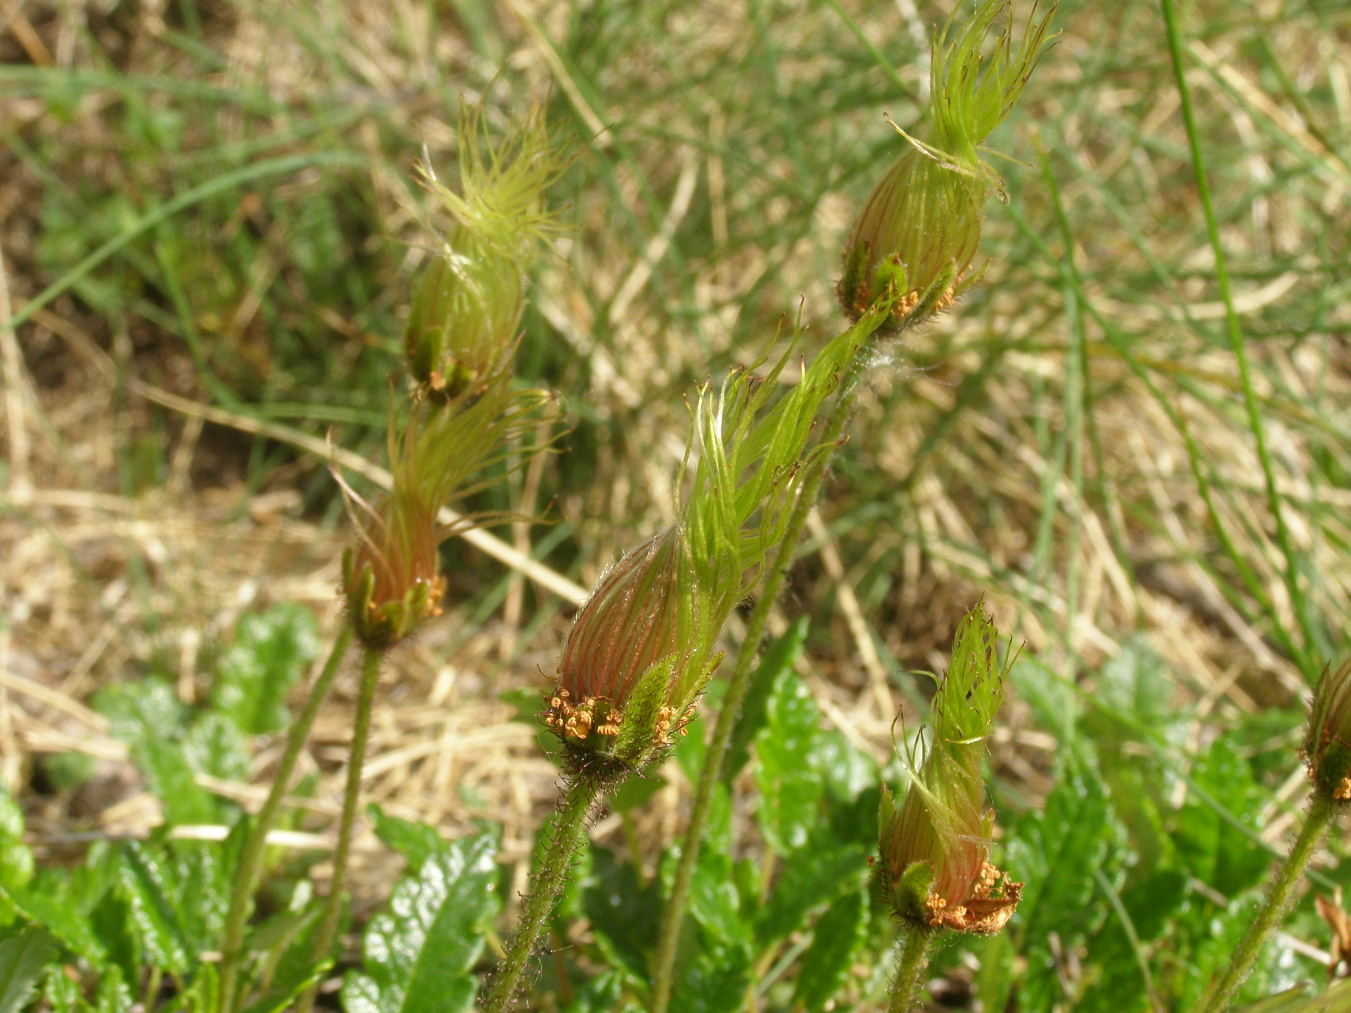
{"label": "large glossy wrinkled leaf at bottom, between left stems and central short stem", "polygon": [[471,974],[501,905],[490,833],[428,855],[370,920],[362,971],[343,982],[347,1013],[457,1013],[474,1001]]}

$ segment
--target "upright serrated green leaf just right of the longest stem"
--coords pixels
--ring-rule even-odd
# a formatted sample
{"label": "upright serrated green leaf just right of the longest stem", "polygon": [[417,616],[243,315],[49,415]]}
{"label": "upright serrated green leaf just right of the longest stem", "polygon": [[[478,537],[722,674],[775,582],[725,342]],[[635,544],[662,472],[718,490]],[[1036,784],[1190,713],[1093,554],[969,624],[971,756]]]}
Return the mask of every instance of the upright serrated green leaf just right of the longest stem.
{"label": "upright serrated green leaf just right of the longest stem", "polygon": [[755,736],[755,816],[765,841],[778,855],[801,847],[820,820],[821,778],[815,763],[820,712],[802,681],[780,674]]}

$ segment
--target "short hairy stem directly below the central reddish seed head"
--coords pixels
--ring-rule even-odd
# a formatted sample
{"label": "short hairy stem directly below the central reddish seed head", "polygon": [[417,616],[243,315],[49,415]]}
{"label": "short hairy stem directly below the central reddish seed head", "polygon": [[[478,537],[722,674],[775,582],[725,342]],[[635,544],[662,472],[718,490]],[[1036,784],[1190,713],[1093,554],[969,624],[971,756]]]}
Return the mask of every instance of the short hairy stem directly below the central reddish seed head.
{"label": "short hairy stem directly below the central reddish seed head", "polygon": [[516,935],[507,948],[507,956],[493,975],[488,998],[484,999],[482,1013],[503,1013],[515,997],[520,979],[526,974],[526,966],[530,963],[530,956],[535,951],[539,933],[544,928],[544,921],[554,910],[558,894],[563,891],[567,870],[577,854],[582,821],[596,802],[600,790],[601,782],[598,779],[577,777],[558,797],[558,808],[554,810],[554,821],[549,831],[551,840],[549,847],[543,850],[544,858],[534,875],[530,895],[526,897],[526,906],[521,908]]}

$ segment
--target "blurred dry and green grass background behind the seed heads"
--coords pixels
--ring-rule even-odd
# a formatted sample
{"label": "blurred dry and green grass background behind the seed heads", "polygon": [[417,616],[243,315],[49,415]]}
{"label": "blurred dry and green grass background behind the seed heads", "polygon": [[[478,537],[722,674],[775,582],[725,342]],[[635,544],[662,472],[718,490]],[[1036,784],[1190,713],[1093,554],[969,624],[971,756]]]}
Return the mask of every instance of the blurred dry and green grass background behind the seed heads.
{"label": "blurred dry and green grass background behind the seed heads", "polygon": [[[839,326],[842,242],[901,150],[882,113],[913,124],[947,11],[7,8],[0,751],[34,844],[58,860],[159,819],[84,706],[97,687],[159,673],[197,701],[240,616],[289,600],[340,621],[347,534],[312,442],[382,463],[434,223],[412,166],[426,150],[453,177],[459,101],[496,128],[542,101],[589,139],[555,192],[577,228],[540,266],[520,367],[565,396],[573,431],[501,493],[551,523],[497,532],[585,588],[665,524],[693,386],[759,357],[785,316]],[[811,616],[802,675],[828,721],[878,756],[921,685],[907,673],[943,666],[981,596],[1079,708],[1148,656],[1146,702],[1179,716],[1150,760],[1185,778],[1231,736],[1260,775],[1254,843],[1278,847],[1302,696],[1351,639],[1351,24],[1316,0],[1182,11],[1244,381],[1159,9],[1066,3],[1056,20],[990,142],[1015,161],[985,281],[873,371],[784,613]],[[447,833],[504,821],[521,858],[554,773],[497,694],[542,685],[571,605],[480,548],[446,558],[447,612],[390,666],[366,790]],[[312,754],[320,814],[351,689]],[[1024,696],[994,747],[1015,809],[1078,733]],[[72,751],[93,759],[63,777]],[[627,828],[650,856],[682,790]],[[389,873],[373,839],[358,862],[369,905]]]}

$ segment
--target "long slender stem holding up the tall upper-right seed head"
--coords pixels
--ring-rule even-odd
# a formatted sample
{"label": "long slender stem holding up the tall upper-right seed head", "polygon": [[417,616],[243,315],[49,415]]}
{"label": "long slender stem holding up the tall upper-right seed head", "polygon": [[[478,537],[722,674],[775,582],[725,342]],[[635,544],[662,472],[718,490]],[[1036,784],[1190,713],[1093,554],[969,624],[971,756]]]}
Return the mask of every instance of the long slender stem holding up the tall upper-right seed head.
{"label": "long slender stem holding up the tall upper-right seed head", "polygon": [[861,343],[855,348],[850,365],[846,367],[840,389],[835,396],[835,404],[825,419],[821,444],[827,448],[815,462],[811,475],[802,484],[802,489],[793,504],[793,513],[784,531],[778,552],[770,563],[765,577],[765,586],[759,600],[751,612],[746,625],[746,639],[742,640],[740,652],[736,655],[736,669],[727,681],[727,696],[723,697],[721,709],[717,713],[717,724],[713,727],[712,739],[708,743],[708,752],[704,755],[704,766],[694,785],[694,797],[690,801],[689,824],[685,827],[685,836],[681,839],[680,862],[676,866],[676,879],[671,883],[671,895],[662,912],[661,936],[657,943],[655,974],[653,978],[653,1013],[666,1013],[670,1006],[671,989],[676,982],[676,948],[680,940],[681,924],[685,918],[685,905],[689,901],[690,883],[694,878],[694,862],[698,859],[698,848],[704,839],[704,824],[708,820],[708,806],[713,801],[713,789],[723,782],[723,760],[732,742],[732,732],[736,731],[736,719],[740,716],[742,704],[746,702],[746,693],[750,689],[750,677],[755,670],[755,660],[759,656],[761,640],[769,627],[770,613],[774,602],[784,588],[788,569],[797,552],[797,543],[801,539],[807,517],[816,505],[816,497],[821,490],[821,481],[825,469],[830,466],[835,446],[844,435],[848,424],[850,409],[854,405],[854,385],[863,367],[863,348]]}

